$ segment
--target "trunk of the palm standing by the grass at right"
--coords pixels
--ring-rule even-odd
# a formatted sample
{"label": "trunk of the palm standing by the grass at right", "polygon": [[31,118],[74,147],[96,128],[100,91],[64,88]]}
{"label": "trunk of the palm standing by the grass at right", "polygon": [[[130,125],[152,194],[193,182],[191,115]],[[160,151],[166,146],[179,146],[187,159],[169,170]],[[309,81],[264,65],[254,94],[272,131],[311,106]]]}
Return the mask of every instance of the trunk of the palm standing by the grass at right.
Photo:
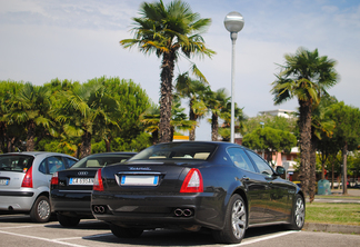
{"label": "trunk of the palm standing by the grass at right", "polygon": [[309,192],[311,148],[311,101],[299,100],[300,105],[300,182],[304,195]]}

